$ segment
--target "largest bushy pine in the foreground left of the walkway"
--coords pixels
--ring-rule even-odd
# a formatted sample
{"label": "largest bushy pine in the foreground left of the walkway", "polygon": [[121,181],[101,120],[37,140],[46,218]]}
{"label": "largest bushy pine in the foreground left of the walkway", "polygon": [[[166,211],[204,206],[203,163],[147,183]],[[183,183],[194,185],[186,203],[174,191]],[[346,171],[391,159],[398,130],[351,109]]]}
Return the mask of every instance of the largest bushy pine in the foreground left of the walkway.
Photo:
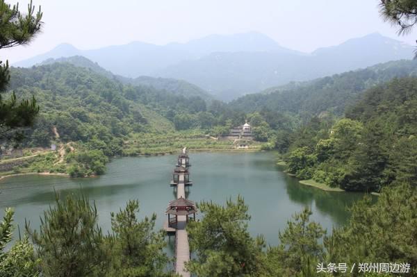
{"label": "largest bushy pine in the foreground left of the walkway", "polygon": [[41,258],[43,276],[103,276],[108,268],[95,205],[85,196],[72,194],[44,211],[40,230],[26,224]]}

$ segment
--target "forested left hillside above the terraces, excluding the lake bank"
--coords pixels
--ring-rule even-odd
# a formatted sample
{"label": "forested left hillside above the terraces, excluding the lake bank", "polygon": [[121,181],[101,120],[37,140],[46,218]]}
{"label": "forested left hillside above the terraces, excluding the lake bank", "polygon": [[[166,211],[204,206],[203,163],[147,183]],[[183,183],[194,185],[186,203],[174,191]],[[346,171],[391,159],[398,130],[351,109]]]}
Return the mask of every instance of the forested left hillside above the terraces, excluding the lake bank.
{"label": "forested left hillside above the terraces, excluding the lake bank", "polygon": [[18,96],[33,94],[42,111],[29,145],[49,144],[54,138],[53,126],[61,132],[60,140],[64,142],[87,142],[92,137],[106,142],[110,137],[170,133],[174,128],[198,128],[219,135],[252,117],[254,127],[265,122],[268,130],[296,126],[295,119],[283,113],[259,110],[250,115],[217,100],[186,97],[148,85],[125,85],[117,78],[107,78],[104,69],[84,58],[70,61],[81,63],[81,67],[55,62],[13,69],[10,90]]}

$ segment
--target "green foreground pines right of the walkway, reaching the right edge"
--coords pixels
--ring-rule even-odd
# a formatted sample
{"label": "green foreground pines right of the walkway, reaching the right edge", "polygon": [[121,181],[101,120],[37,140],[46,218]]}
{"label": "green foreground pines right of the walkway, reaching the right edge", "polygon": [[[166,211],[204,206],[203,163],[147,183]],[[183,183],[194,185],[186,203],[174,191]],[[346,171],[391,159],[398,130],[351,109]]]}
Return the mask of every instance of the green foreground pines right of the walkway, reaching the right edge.
{"label": "green foreground pines right of the walkway, reaching the right edge", "polygon": [[[188,225],[197,258],[188,269],[198,276],[317,276],[318,263],[408,262],[417,271],[416,187],[384,187],[374,205],[369,196],[355,203],[348,224],[326,230],[310,220],[305,208],[279,233],[279,246],[265,247],[247,233],[247,205],[238,198],[225,206],[201,203],[201,221]],[[398,207],[398,209],[393,209]],[[377,217],[375,215],[378,215]],[[401,220],[398,220],[401,219]],[[355,269],[346,276],[365,276]]]}

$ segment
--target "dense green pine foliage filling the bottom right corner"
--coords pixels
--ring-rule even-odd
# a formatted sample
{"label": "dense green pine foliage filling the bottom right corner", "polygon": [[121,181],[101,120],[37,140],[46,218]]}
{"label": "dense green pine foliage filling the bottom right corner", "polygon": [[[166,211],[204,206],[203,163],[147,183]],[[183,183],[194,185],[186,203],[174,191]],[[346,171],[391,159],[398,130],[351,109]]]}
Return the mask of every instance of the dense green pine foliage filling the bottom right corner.
{"label": "dense green pine foliage filling the bottom right corner", "polygon": [[416,187],[407,183],[384,187],[376,203],[366,196],[351,212],[348,224],[325,239],[327,262],[404,262],[412,271],[404,276],[416,276]]}

